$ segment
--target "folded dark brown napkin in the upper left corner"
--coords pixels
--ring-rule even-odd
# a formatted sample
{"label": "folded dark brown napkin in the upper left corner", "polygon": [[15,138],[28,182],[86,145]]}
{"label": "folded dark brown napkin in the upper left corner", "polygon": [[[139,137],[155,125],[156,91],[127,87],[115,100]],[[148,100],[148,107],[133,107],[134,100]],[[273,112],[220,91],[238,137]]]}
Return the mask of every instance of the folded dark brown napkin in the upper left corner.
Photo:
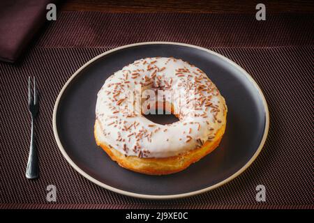
{"label": "folded dark brown napkin in the upper left corner", "polygon": [[46,20],[54,0],[0,1],[0,60],[14,62]]}

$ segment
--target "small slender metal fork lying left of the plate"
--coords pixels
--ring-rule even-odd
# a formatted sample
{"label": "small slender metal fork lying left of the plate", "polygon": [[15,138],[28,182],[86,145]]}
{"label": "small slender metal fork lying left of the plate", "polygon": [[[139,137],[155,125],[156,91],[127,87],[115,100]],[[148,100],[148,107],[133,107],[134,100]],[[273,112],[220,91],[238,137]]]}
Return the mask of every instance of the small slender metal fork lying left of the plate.
{"label": "small slender metal fork lying left of the plate", "polygon": [[27,162],[26,177],[28,179],[38,178],[38,155],[35,144],[34,121],[38,113],[38,94],[36,81],[33,77],[33,95],[31,94],[31,77],[29,77],[29,112],[31,113],[31,144],[29,146],[29,160]]}

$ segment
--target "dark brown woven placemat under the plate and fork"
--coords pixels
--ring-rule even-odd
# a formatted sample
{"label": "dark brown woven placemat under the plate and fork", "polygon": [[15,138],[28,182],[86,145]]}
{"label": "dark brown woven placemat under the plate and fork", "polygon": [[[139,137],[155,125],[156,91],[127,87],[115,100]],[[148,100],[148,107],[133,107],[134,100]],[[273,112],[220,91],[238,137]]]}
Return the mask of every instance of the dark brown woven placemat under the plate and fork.
{"label": "dark brown woven placemat under the plate and fork", "polygon": [[[0,208],[313,208],[313,15],[61,13],[26,56],[0,63]],[[200,45],[247,70],[267,98],[271,126],[257,160],[216,190],[186,199],[151,201],[89,182],[62,157],[52,133],[54,101],[89,59],[128,43]],[[30,117],[27,77],[38,79],[36,121],[40,178],[27,180]],[[47,185],[57,202],[46,201]],[[267,201],[255,201],[256,185]]]}

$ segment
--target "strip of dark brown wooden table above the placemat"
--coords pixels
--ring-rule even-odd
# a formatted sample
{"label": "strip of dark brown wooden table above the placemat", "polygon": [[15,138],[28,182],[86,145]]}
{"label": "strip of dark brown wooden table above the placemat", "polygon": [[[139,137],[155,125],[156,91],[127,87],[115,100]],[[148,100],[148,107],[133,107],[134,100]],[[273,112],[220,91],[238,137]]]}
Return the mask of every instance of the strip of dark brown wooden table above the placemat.
{"label": "strip of dark brown wooden table above the placemat", "polygon": [[313,13],[313,1],[202,1],[202,0],[68,0],[63,11],[101,11],[111,13],[255,13],[257,3],[264,3],[269,13]]}

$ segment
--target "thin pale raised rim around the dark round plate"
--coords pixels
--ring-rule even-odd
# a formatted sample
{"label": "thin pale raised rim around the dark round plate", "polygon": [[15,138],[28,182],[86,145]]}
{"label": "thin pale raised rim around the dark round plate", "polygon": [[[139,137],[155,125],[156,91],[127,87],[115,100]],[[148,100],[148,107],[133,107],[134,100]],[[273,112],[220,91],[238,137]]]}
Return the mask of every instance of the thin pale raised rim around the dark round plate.
{"label": "thin pale raised rim around the dark round plate", "polygon": [[[203,188],[201,190],[195,190],[193,192],[187,192],[187,193],[181,193],[181,194],[154,195],[154,194],[140,194],[140,193],[135,193],[135,192],[128,192],[126,190],[121,190],[121,189],[112,187],[110,185],[107,185],[105,183],[102,183],[99,180],[96,180],[96,178],[93,178],[92,176],[89,176],[89,174],[87,174],[82,169],[80,169],[80,167],[78,167],[77,164],[75,164],[75,162],[73,162],[73,160],[70,159],[70,157],[68,156],[68,154],[66,153],[65,149],[63,148],[63,146],[61,144],[61,141],[59,139],[59,134],[58,134],[58,131],[57,131],[57,111],[58,111],[59,102],[60,102],[60,99],[61,99],[61,97],[63,95],[63,92],[66,90],[66,88],[68,87],[70,82],[72,82],[72,80],[82,70],[84,70],[84,68],[87,68],[87,66],[89,66],[94,61],[100,59],[101,57],[103,57],[103,56],[105,56],[107,54],[111,54],[112,52],[116,52],[116,51],[119,51],[119,50],[125,49],[125,48],[136,47],[136,46],[140,46],[140,45],[178,45],[178,46],[192,47],[192,48],[195,48],[195,49],[200,49],[200,50],[205,51],[205,52],[207,52],[209,54],[214,54],[214,55],[220,57],[220,59],[223,59],[224,61],[227,61],[227,63],[230,63],[232,66],[234,66],[237,69],[239,69],[241,71],[241,73],[244,74],[246,76],[246,78],[248,78],[248,80],[253,84],[253,86],[255,86],[255,89],[259,93],[259,95],[260,95],[260,97],[262,99],[262,102],[264,104],[264,112],[265,112],[264,133],[263,133],[262,140],[260,141],[260,145],[258,146],[257,150],[255,151],[253,156],[250,158],[250,160],[248,160],[248,162],[246,162],[246,164],[244,164],[243,167],[241,167],[238,171],[236,171],[234,174],[232,174],[228,178],[225,178],[225,180],[222,180],[219,183],[216,183],[216,184],[211,185],[209,187],[205,187],[205,188]],[[251,77],[251,75],[249,75],[248,72],[246,72],[246,70],[244,70],[244,68],[241,68],[241,66],[237,65],[237,63],[234,63],[234,61],[231,61],[230,59],[227,59],[227,57],[225,57],[225,56],[223,56],[221,54],[218,54],[218,53],[216,53],[214,51],[211,51],[210,49],[206,49],[204,47],[199,47],[199,46],[196,46],[196,45],[190,45],[190,44],[186,44],[186,43],[159,42],[159,41],[158,42],[142,42],[142,43],[133,43],[133,44],[124,45],[124,46],[121,46],[121,47],[116,47],[114,49],[110,49],[110,50],[108,50],[106,52],[103,52],[102,54],[99,54],[98,56],[95,56],[93,59],[87,61],[87,63],[84,63],[83,66],[81,66],[78,70],[76,70],[74,72],[74,74],[71,75],[71,77],[68,79],[66,84],[63,85],[61,91],[59,92],[57,100],[56,100],[56,102],[54,104],[54,109],[53,109],[53,114],[52,114],[52,127],[53,127],[53,132],[54,132],[54,139],[57,142],[57,146],[59,148],[59,151],[61,151],[61,154],[66,159],[66,161],[70,164],[70,166],[73,167],[79,174],[84,176],[84,178],[87,178],[87,180],[90,180],[91,182],[95,183],[96,185],[99,185],[100,187],[103,187],[103,188],[105,188],[107,190],[110,190],[112,192],[116,192],[118,194],[123,194],[123,195],[130,196],[130,197],[137,197],[137,198],[140,198],[140,199],[179,199],[179,198],[194,196],[194,195],[197,195],[197,194],[202,194],[204,192],[208,192],[209,190],[213,190],[213,189],[215,189],[217,187],[220,187],[220,186],[224,185],[225,183],[230,182],[234,178],[237,178],[237,176],[241,175],[246,169],[248,169],[248,167],[251,166],[251,164],[254,162],[254,160],[257,158],[257,156],[260,154],[260,151],[262,151],[264,143],[265,143],[265,141],[267,139],[267,134],[269,132],[269,109],[268,109],[267,101],[266,101],[266,99],[264,97],[264,94],[262,93],[262,90],[260,89],[260,86],[257,85],[257,83],[255,82],[253,77]]]}

